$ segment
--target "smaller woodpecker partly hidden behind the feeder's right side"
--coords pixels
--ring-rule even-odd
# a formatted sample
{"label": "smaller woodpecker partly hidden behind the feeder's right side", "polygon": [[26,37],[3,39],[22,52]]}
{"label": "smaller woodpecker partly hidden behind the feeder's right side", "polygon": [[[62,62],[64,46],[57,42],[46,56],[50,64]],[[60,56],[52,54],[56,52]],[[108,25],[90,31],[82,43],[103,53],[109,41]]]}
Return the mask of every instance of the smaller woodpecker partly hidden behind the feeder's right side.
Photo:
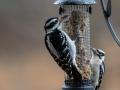
{"label": "smaller woodpecker partly hidden behind the feeder's right side", "polygon": [[95,90],[98,90],[105,73],[105,64],[104,64],[105,52],[95,48],[91,48],[91,51],[92,51],[92,57],[90,60],[91,72],[92,72],[91,80]]}

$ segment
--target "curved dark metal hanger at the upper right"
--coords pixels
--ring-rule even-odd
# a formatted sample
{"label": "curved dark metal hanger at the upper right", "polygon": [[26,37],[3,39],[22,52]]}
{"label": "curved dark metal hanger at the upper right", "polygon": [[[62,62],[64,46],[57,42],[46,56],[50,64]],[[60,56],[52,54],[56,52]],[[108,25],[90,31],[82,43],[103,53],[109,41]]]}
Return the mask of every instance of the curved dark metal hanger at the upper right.
{"label": "curved dark metal hanger at the upper right", "polygon": [[107,26],[114,38],[114,40],[116,41],[116,43],[120,46],[120,40],[118,39],[112,25],[111,25],[111,22],[109,20],[109,17],[111,16],[111,0],[108,0],[107,2],[107,9],[105,7],[105,3],[104,3],[104,0],[100,0],[101,1],[101,6],[102,6],[102,10],[103,10],[103,13],[104,13],[104,17],[105,17],[105,20],[106,20],[106,23],[107,23]]}

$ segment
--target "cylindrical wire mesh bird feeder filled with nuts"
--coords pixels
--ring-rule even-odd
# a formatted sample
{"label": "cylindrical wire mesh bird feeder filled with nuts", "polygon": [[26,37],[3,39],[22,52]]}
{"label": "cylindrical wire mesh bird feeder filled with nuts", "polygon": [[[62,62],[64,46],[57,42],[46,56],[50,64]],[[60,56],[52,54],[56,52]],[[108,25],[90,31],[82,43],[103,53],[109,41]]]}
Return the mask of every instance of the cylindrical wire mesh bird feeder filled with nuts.
{"label": "cylindrical wire mesh bird feeder filled with nuts", "polygon": [[54,4],[60,5],[59,14],[69,15],[63,21],[62,28],[72,40],[76,37],[76,63],[82,76],[82,83],[74,82],[65,77],[63,90],[93,90],[91,85],[90,69],[90,19],[94,0],[57,0]]}

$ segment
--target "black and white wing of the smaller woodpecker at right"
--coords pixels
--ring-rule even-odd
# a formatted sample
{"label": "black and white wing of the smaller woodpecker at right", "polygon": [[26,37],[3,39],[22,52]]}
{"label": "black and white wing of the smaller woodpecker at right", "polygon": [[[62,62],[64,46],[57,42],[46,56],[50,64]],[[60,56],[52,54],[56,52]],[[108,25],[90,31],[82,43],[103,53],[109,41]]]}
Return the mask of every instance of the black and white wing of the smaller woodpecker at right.
{"label": "black and white wing of the smaller woodpecker at right", "polygon": [[103,78],[103,76],[104,76],[104,73],[105,73],[105,63],[104,62],[102,62],[102,64],[100,65],[100,72],[99,72],[100,74],[99,74],[99,83],[98,83],[98,85],[95,87],[95,90],[98,90],[99,89],[99,87],[100,87],[100,85],[101,85],[101,82],[102,82],[102,78]]}

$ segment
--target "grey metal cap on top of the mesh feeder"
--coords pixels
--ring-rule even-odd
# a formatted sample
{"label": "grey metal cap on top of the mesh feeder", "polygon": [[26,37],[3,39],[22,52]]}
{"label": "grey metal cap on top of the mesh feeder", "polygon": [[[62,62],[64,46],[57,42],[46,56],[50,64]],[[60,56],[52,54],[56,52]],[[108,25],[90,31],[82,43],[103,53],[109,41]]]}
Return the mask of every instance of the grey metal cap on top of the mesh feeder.
{"label": "grey metal cap on top of the mesh feeder", "polygon": [[96,4],[95,0],[57,0],[55,5],[83,5],[83,4]]}

